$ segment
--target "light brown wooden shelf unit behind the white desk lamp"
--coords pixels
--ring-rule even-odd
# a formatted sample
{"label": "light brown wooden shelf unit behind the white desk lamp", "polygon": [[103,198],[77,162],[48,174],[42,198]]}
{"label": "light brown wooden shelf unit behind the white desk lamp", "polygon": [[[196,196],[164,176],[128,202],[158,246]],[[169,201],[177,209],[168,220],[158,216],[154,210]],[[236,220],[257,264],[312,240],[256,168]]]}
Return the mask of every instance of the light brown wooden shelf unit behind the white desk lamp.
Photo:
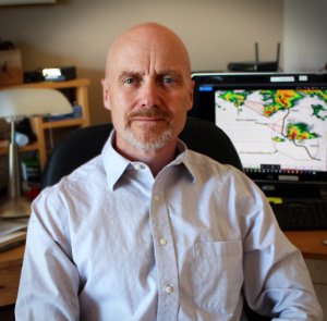
{"label": "light brown wooden shelf unit behind the white desk lamp", "polygon": [[[53,141],[53,144],[56,144],[56,140],[58,140],[68,132],[77,127],[89,125],[88,86],[89,79],[87,78],[78,78],[66,82],[40,82],[11,86],[0,86],[0,90],[5,88],[52,88],[61,90],[63,92],[65,90],[72,90],[73,101],[82,108],[82,116],[78,119],[66,119],[60,121],[47,121],[47,119],[43,116],[35,116],[31,119],[31,124],[37,137],[37,141],[21,147],[20,151],[37,151],[39,156],[39,163],[41,170],[44,169],[47,161],[47,156],[51,150],[51,146],[49,147],[49,143],[47,141],[47,137],[49,135],[51,137],[56,136]],[[0,155],[7,152],[8,148],[0,148]]]}

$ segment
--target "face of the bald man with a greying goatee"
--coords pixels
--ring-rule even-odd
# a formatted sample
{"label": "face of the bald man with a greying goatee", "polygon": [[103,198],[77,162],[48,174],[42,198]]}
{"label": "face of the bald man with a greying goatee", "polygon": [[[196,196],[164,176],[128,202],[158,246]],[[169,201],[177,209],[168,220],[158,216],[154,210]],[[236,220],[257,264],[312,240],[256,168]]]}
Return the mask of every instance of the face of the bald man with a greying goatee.
{"label": "face of the bald man with a greying goatee", "polygon": [[193,102],[184,48],[170,34],[125,36],[109,53],[104,99],[119,148],[174,148]]}

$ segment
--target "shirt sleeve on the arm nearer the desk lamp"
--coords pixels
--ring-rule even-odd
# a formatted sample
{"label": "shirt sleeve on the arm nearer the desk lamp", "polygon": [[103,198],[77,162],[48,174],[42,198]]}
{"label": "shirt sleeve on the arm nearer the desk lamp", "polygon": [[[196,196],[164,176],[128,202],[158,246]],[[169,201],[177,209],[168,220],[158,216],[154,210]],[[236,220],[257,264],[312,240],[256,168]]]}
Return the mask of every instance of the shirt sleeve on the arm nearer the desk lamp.
{"label": "shirt sleeve on the arm nearer the desk lamp", "polygon": [[34,202],[28,224],[15,320],[78,320],[78,272],[65,209],[50,189]]}

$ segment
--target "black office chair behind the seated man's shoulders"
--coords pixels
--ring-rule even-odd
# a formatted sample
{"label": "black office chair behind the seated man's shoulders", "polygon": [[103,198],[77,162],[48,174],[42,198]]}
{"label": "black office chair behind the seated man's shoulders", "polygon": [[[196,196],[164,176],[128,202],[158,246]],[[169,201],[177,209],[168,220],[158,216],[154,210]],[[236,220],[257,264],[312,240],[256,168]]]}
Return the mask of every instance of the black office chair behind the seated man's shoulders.
{"label": "black office chair behind the seated man's shoulders", "polygon": [[[74,169],[101,152],[101,149],[112,131],[112,124],[100,124],[78,128],[55,146],[46,163],[41,187],[51,186]],[[180,138],[190,149],[202,152],[210,158],[243,170],[239,155],[230,138],[214,123],[196,118],[187,118]],[[253,312],[246,303],[244,311],[250,321],[265,321],[270,318]]]}

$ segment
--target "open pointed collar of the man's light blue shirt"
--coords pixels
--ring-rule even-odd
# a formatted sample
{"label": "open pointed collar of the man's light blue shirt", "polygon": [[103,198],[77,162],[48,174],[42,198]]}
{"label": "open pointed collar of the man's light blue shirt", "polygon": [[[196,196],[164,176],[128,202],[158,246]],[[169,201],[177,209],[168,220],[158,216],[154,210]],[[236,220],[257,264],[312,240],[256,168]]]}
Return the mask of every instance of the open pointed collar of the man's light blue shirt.
{"label": "open pointed collar of the man's light blue shirt", "polygon": [[[112,129],[101,152],[101,158],[107,175],[107,183],[111,190],[114,189],[116,183],[120,180],[125,170],[132,165],[132,162],[130,160],[124,158],[113,148],[114,135],[116,129]],[[177,158],[173,161],[171,161],[167,166],[183,164],[184,169],[192,176],[192,180],[194,180],[195,174],[192,168],[192,162],[190,162],[190,158],[192,157],[190,150],[182,140],[178,141],[177,150]]]}

